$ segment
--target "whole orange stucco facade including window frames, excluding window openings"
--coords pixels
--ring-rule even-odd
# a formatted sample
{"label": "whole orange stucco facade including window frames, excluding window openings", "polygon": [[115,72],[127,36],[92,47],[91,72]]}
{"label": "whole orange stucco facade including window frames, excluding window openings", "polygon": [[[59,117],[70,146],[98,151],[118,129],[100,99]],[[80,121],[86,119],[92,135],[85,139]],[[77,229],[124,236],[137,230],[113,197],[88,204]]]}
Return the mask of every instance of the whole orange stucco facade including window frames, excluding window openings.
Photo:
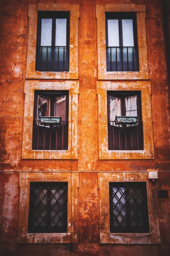
{"label": "whole orange stucco facade including window frames, excluding window openings", "polygon": [[[70,71],[35,71],[38,11],[70,12]],[[107,72],[105,12],[136,12],[139,72]],[[1,255],[169,255],[170,3],[2,0]],[[68,150],[33,150],[34,90],[69,91]],[[107,91],[138,90],[143,150],[108,150]],[[148,180],[148,172],[158,179]],[[68,233],[27,233],[29,182],[67,181]],[[147,183],[150,233],[109,231],[109,182]],[[168,198],[158,198],[167,190]]]}

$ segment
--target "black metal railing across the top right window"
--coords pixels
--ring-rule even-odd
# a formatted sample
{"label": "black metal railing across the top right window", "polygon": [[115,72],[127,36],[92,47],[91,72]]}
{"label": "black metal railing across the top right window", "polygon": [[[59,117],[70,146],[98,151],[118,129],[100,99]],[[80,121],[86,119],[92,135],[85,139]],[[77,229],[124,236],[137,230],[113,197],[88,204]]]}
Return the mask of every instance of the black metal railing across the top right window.
{"label": "black metal railing across the top right window", "polygon": [[106,47],[107,71],[139,71],[138,47]]}

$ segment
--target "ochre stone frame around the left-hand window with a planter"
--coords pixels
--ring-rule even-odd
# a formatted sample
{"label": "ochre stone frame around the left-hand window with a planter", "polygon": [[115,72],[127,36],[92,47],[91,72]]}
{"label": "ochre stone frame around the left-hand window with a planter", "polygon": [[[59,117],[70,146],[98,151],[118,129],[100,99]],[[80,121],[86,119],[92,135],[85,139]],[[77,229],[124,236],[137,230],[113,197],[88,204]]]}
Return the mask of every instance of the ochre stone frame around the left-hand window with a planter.
{"label": "ochre stone frame around the left-hand window with a planter", "polygon": [[[68,150],[32,149],[34,91],[68,90]],[[22,159],[78,159],[78,94],[79,81],[25,81]]]}

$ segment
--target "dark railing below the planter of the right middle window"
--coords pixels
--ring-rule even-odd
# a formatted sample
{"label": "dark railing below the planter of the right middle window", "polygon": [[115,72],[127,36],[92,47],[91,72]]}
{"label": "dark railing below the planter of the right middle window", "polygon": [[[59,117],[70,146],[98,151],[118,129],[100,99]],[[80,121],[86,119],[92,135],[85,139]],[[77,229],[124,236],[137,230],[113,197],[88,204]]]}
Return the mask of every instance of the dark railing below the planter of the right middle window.
{"label": "dark railing below the planter of the right middle window", "polygon": [[115,125],[115,121],[109,121],[108,146],[109,150],[143,150],[142,121],[136,125]]}

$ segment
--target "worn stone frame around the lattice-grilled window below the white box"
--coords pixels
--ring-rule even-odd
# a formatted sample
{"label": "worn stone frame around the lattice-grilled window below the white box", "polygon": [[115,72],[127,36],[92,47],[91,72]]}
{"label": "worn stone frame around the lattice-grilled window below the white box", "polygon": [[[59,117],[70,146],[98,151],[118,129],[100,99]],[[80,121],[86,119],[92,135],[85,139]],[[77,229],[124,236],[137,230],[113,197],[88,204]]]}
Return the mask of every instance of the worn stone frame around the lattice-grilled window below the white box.
{"label": "worn stone frame around the lattice-grilled window below the white box", "polygon": [[[110,233],[109,182],[146,182],[149,233]],[[148,180],[147,172],[99,173],[98,186],[101,244],[160,244],[157,185]]]}

